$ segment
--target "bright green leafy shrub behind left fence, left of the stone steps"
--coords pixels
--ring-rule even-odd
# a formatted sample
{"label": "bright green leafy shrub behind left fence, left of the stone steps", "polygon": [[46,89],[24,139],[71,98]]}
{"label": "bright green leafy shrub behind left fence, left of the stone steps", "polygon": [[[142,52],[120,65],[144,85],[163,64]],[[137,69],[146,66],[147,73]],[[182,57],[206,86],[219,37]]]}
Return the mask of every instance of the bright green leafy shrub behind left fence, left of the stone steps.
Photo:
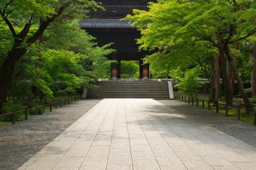
{"label": "bright green leafy shrub behind left fence, left of the stone steps", "polygon": [[84,82],[89,80],[79,61],[81,54],[67,50],[46,50],[43,53],[44,69],[54,81],[54,92],[57,95],[74,95]]}

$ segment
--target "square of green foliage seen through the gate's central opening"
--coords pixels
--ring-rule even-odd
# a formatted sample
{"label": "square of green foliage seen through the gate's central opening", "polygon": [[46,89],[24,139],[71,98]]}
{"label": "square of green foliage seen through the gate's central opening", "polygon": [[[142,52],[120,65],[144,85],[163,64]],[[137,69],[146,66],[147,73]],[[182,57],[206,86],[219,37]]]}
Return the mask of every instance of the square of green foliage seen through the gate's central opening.
{"label": "square of green foliage seen through the gate's central opening", "polygon": [[121,76],[122,79],[138,78],[139,77],[138,61],[121,61]]}

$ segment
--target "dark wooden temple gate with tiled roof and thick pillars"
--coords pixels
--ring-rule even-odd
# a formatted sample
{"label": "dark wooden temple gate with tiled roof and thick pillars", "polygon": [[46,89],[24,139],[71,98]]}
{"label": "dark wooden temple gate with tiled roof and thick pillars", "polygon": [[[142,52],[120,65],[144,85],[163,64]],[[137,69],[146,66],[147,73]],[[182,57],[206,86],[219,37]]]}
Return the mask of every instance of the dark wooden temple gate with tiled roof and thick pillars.
{"label": "dark wooden temple gate with tiled roof and thick pillars", "polygon": [[147,10],[147,0],[104,0],[102,6],[106,10],[90,12],[90,19],[83,19],[80,26],[90,35],[97,38],[99,45],[113,43],[114,54],[108,56],[115,60],[111,64],[111,78],[121,78],[121,61],[140,61],[140,79],[149,78],[149,65],[143,64],[143,58],[148,55],[145,51],[138,51],[136,39],[140,38],[140,31],[132,27],[126,20],[120,20],[133,9]]}

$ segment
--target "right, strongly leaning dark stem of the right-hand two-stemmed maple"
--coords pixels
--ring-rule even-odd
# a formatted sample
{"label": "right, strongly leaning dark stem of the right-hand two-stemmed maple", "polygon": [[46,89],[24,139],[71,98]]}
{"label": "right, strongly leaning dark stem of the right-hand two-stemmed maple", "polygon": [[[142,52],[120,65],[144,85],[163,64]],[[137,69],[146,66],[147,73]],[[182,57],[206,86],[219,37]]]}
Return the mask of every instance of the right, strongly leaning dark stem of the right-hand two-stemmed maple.
{"label": "right, strongly leaning dark stem of the right-hand two-stemmed maple", "polygon": [[244,105],[246,107],[246,112],[253,112],[253,105],[250,102],[250,100],[248,99],[248,97],[246,96],[246,93],[244,91],[243,81],[242,81],[239,73],[237,72],[236,61],[234,60],[234,57],[232,56],[232,54],[230,54],[229,48],[227,46],[224,47],[224,50],[225,50],[225,54],[228,58],[228,61],[230,63],[230,66],[232,68],[232,71],[236,74],[237,85],[238,85],[239,91],[241,93],[241,96],[243,98]]}

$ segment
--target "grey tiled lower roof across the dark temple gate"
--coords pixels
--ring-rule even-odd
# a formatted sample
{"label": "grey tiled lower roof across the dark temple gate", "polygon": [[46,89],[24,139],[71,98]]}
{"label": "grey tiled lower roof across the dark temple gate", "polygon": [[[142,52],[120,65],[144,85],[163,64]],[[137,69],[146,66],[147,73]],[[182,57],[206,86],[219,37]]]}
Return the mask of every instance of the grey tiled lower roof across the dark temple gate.
{"label": "grey tiled lower roof across the dark temple gate", "polygon": [[100,27],[100,28],[132,28],[127,20],[118,19],[83,19],[80,21],[83,28]]}

